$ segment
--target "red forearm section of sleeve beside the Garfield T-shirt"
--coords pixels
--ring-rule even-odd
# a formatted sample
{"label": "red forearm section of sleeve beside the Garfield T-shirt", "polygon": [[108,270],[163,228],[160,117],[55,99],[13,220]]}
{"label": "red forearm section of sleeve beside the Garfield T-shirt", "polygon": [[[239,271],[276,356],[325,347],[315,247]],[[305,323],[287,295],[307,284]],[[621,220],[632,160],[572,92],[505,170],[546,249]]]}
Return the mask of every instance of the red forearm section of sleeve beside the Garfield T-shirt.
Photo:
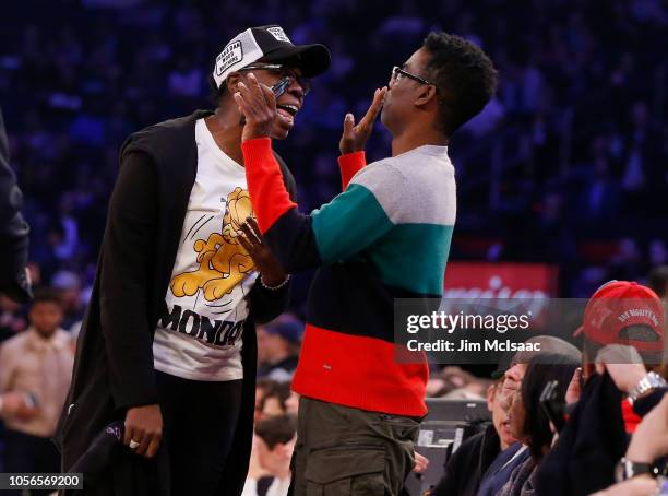
{"label": "red forearm section of sleeve beside the Garfield T-shirt", "polygon": [[262,234],[297,203],[290,200],[285,189],[281,166],[274,157],[272,140],[258,138],[241,143],[246,180],[258,225]]}

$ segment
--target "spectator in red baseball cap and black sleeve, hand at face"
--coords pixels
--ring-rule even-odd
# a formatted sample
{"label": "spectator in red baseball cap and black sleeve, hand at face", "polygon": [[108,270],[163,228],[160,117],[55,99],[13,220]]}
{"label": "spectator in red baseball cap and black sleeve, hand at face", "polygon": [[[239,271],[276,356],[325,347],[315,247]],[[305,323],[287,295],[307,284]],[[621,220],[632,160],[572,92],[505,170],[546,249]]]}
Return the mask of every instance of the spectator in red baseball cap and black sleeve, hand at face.
{"label": "spectator in red baseball cap and black sleeve, hand at face", "polygon": [[605,284],[587,303],[576,334],[584,334],[587,383],[536,476],[537,491],[546,496],[588,495],[606,487],[627,435],[666,390],[666,381],[647,371],[658,368],[664,351],[664,308],[648,287],[628,281]]}

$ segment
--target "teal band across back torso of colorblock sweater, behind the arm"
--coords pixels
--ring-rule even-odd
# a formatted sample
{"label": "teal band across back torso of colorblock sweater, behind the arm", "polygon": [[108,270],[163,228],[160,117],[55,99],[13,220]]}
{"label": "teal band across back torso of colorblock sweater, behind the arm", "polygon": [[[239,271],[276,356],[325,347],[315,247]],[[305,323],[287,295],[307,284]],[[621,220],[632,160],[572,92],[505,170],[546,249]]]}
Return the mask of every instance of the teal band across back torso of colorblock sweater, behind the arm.
{"label": "teal band across back torso of colorblock sweater, behind the arm", "polygon": [[368,250],[383,283],[440,295],[453,226],[399,224]]}

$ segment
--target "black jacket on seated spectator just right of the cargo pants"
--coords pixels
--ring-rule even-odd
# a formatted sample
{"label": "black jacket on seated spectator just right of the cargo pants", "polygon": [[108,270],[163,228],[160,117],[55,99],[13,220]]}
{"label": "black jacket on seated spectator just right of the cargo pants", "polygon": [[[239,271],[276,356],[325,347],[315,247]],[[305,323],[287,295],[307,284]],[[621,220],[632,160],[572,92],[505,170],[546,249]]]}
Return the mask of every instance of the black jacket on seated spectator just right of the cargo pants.
{"label": "black jacket on seated spectator just right of the cargo pants", "polygon": [[480,480],[501,451],[501,441],[493,424],[466,439],[445,465],[445,473],[433,496],[475,496]]}

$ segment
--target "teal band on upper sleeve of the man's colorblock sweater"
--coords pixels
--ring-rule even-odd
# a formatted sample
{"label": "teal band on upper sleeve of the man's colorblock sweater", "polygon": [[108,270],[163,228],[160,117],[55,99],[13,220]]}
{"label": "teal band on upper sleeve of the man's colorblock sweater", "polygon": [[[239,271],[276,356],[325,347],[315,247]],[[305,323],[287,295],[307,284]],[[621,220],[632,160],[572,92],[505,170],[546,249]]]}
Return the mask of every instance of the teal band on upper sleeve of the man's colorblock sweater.
{"label": "teal band on upper sleeve of the man's colorblock sweater", "polygon": [[362,251],[392,229],[390,217],[371,191],[350,185],[311,213],[320,258],[332,263]]}

